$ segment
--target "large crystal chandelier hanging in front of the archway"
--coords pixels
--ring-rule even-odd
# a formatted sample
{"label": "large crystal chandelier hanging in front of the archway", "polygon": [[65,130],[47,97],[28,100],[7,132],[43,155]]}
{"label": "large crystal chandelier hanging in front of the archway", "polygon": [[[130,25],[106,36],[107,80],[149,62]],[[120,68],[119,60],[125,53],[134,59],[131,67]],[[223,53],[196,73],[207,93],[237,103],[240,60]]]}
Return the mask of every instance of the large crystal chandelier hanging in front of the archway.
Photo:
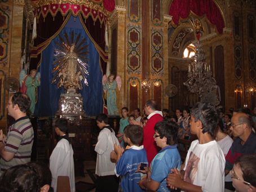
{"label": "large crystal chandelier hanging in front of the archway", "polygon": [[211,67],[205,62],[206,55],[200,41],[195,44],[195,55],[191,58],[193,62],[188,65],[188,80],[183,84],[202,99],[202,94],[210,92],[216,86],[216,81],[211,77]]}

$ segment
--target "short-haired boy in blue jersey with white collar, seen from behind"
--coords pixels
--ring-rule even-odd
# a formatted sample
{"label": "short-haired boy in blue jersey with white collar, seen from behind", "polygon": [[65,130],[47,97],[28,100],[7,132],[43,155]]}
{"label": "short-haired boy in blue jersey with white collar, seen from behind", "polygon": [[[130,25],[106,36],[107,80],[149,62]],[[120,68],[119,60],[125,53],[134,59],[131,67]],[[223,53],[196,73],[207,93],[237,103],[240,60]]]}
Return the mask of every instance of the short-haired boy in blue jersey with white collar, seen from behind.
{"label": "short-haired boy in blue jersey with white collar, seen from behind", "polygon": [[120,145],[114,144],[114,151],[111,153],[111,158],[116,160],[116,168],[114,172],[116,176],[121,177],[121,191],[144,191],[137,184],[141,180],[141,174],[137,171],[140,163],[144,163],[147,167],[147,153],[140,143],[143,140],[143,128],[138,125],[129,125],[123,131],[123,140],[129,145],[123,152]]}

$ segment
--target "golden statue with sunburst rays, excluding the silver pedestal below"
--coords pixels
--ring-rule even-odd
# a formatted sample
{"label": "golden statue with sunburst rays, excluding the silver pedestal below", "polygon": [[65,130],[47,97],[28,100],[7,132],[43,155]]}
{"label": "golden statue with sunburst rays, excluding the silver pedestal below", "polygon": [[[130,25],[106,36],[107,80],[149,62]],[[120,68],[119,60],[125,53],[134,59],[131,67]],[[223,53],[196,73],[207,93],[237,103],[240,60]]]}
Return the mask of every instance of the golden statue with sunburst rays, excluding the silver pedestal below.
{"label": "golden statue with sunburst rays, excluding the silver pedestal below", "polygon": [[[86,44],[86,38],[81,38],[78,34],[74,38],[74,32],[71,32],[71,37],[64,33],[64,38],[59,35],[58,41],[55,41],[56,48],[54,49],[54,78],[52,83],[57,83],[57,88],[64,87],[64,90],[75,91],[81,90],[83,85],[88,86],[87,67],[86,63],[89,60],[86,56],[89,53]],[[82,81],[82,83],[81,83]]]}

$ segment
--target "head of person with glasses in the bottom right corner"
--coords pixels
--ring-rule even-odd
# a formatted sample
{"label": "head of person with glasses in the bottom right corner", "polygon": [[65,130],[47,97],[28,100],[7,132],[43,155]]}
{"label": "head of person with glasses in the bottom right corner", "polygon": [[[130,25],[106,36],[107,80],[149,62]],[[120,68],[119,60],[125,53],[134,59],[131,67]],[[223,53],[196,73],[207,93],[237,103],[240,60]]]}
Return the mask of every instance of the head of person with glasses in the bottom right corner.
{"label": "head of person with glasses in the bottom right corner", "polygon": [[229,173],[237,192],[256,191],[256,155],[241,155]]}

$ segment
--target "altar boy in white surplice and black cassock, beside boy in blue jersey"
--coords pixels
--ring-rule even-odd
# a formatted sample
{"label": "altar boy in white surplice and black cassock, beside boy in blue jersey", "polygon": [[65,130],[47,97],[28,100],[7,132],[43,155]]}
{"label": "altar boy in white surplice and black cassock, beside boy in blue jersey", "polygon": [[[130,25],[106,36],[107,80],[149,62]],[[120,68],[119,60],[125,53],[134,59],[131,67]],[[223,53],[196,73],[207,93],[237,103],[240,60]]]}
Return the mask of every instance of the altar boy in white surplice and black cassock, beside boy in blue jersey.
{"label": "altar boy in white surplice and black cassock, beside boy in blue jersey", "polygon": [[98,175],[96,192],[115,192],[118,190],[118,178],[114,173],[116,163],[111,162],[110,154],[114,150],[114,144],[119,145],[119,142],[114,130],[108,124],[108,116],[106,114],[99,114],[96,117],[96,123],[101,129],[95,146],[95,151],[97,152],[95,174]]}

